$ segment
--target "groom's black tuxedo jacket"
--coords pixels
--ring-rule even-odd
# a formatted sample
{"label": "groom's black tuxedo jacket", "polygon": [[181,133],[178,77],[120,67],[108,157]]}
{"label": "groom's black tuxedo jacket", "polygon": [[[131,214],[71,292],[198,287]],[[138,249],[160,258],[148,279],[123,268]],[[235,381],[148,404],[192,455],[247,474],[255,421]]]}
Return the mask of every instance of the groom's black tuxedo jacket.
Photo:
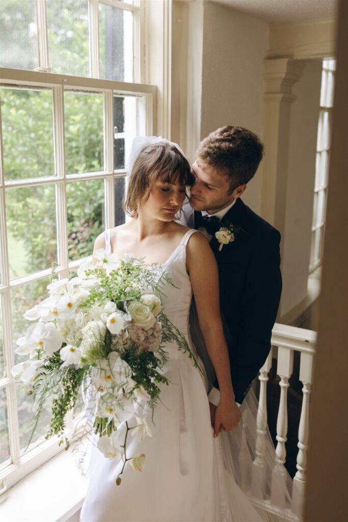
{"label": "groom's black tuxedo jacket", "polygon": [[[221,251],[215,236],[210,242],[219,267],[220,306],[232,384],[236,401],[241,403],[271,347],[282,289],[280,233],[240,198],[222,223],[243,229]],[[216,381],[214,386],[218,387]]]}

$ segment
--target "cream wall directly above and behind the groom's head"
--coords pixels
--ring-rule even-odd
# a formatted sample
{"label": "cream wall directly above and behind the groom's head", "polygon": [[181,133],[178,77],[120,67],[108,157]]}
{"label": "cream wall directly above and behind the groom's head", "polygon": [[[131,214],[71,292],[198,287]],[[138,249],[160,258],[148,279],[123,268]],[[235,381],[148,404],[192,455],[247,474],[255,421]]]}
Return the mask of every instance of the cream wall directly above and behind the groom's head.
{"label": "cream wall directly above and behind the groom's head", "polygon": [[[223,125],[262,133],[262,60],[268,34],[266,22],[204,3],[201,138]],[[261,181],[260,167],[243,196],[256,212],[261,205]]]}

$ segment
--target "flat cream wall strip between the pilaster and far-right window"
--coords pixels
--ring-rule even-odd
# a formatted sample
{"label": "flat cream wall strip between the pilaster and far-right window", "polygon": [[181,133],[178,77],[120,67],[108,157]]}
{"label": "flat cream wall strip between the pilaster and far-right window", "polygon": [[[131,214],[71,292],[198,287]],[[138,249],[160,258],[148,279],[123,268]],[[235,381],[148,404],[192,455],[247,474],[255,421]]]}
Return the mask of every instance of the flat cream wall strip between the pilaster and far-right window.
{"label": "flat cream wall strip between the pilaster and far-right window", "polygon": [[307,296],[320,81],[321,60],[311,60],[293,88],[296,100],[291,107],[281,316]]}

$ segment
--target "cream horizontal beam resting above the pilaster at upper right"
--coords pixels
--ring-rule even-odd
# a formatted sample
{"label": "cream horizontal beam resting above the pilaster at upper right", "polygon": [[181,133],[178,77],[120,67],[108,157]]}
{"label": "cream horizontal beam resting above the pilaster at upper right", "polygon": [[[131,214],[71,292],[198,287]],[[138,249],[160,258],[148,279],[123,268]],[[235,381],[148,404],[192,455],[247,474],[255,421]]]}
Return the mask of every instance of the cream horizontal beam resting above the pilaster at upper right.
{"label": "cream horizontal beam resting above the pilaster at upper right", "polygon": [[334,56],[335,34],[335,18],[271,24],[267,58],[308,60]]}

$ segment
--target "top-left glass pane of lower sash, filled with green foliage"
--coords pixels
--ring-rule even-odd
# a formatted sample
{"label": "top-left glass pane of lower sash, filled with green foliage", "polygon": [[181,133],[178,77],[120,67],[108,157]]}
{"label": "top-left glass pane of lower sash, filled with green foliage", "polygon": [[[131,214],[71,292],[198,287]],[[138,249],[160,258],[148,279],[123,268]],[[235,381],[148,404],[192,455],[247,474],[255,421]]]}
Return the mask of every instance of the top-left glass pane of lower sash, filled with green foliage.
{"label": "top-left glass pane of lower sash, filled with green foliage", "polygon": [[5,180],[52,176],[52,91],[0,89]]}

